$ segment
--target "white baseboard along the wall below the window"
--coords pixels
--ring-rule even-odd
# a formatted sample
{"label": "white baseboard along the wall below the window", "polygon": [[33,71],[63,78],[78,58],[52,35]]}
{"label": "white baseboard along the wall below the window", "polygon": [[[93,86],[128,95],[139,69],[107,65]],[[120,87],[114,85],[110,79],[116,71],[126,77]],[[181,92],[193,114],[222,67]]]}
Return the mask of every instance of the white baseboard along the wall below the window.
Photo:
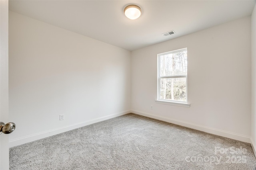
{"label": "white baseboard along the wall below the window", "polygon": [[234,140],[237,140],[237,141],[251,143],[251,137],[248,137],[248,136],[244,136],[244,135],[240,135],[240,134],[236,134],[236,133],[232,133],[232,132],[228,132],[228,131],[222,131],[222,130],[219,130],[219,129],[214,129],[214,128],[210,128],[210,127],[206,127],[206,126],[196,125],[196,124],[188,123],[188,122],[185,122],[185,121],[170,119],[170,118],[162,117],[162,116],[158,116],[158,115],[152,115],[152,114],[145,113],[145,112],[142,112],[142,111],[131,110],[131,113],[135,113],[135,114],[138,114],[138,115],[150,117],[150,118],[153,118],[153,119],[158,119],[158,120],[161,120],[161,121],[166,121],[168,123],[173,123],[173,124],[184,126],[184,127],[189,127],[191,129],[196,129],[198,131],[203,131],[203,132],[206,132],[206,133],[211,133],[211,134],[214,134],[214,135],[227,137],[227,138],[234,139]]}

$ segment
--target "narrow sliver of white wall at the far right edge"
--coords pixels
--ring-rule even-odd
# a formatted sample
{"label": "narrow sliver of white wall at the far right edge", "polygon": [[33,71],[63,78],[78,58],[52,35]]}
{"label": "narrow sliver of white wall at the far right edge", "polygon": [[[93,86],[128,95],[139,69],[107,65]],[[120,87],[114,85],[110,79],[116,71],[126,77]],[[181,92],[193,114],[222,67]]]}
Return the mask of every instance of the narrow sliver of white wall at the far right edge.
{"label": "narrow sliver of white wall at the far right edge", "polygon": [[256,5],[252,12],[252,148],[256,155]]}

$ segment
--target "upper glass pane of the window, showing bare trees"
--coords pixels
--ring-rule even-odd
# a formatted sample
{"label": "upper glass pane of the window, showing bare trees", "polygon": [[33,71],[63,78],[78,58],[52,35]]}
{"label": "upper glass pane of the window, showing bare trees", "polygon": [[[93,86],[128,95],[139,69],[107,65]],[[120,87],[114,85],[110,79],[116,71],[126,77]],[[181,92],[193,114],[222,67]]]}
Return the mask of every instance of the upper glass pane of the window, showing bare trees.
{"label": "upper glass pane of the window, showing bare trees", "polygon": [[160,55],[160,76],[186,75],[187,63],[187,51]]}

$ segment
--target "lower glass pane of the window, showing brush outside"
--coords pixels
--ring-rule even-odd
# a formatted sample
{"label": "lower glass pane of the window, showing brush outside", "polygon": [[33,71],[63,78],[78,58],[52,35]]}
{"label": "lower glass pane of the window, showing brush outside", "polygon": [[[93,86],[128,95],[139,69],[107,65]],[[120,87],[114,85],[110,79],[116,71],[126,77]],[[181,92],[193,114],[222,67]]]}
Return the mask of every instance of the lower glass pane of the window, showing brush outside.
{"label": "lower glass pane of the window, showing brush outside", "polygon": [[160,78],[160,99],[186,102],[186,78]]}

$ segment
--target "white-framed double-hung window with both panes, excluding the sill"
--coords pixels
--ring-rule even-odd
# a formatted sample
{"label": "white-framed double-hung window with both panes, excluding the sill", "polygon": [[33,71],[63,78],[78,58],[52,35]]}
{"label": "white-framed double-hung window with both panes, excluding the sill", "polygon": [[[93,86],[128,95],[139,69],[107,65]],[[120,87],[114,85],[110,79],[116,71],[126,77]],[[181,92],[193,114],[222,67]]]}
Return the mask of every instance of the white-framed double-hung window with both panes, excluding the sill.
{"label": "white-framed double-hung window with both panes, excluding the sill", "polygon": [[187,49],[158,54],[158,100],[187,103]]}

